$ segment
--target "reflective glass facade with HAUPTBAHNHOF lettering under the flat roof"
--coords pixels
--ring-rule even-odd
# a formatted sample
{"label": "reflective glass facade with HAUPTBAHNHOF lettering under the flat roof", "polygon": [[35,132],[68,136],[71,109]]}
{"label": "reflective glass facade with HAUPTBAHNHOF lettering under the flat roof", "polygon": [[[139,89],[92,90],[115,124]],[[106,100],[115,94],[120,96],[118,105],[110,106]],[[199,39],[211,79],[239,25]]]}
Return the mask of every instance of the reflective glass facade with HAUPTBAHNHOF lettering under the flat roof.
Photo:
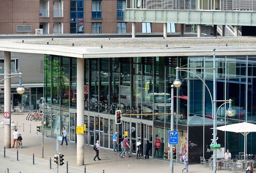
{"label": "reflective glass facade with HAUPTBAHNHOF lettering under the flat roof", "polygon": [[[256,97],[253,87],[256,73],[254,57],[216,57],[217,100],[232,99],[235,114],[226,116],[228,105],[218,111],[217,125],[248,121],[255,123]],[[164,158],[168,148],[171,85],[176,79],[175,67],[213,67],[212,57],[120,57],[86,59],[84,64],[84,124],[85,143],[113,148],[112,136],[128,136],[130,152],[136,153],[136,142],[142,139],[144,153],[146,140],[150,142],[150,156]],[[213,87],[212,69],[191,69],[208,86]],[[177,161],[190,150],[191,163],[198,163],[200,156],[211,156],[212,101],[205,85],[196,75],[179,72],[180,88],[174,88],[174,129],[178,130]],[[63,126],[68,140],[76,142],[76,58],[45,55],[44,94],[51,104],[44,106],[48,112],[45,135],[55,137]],[[53,102],[53,100],[56,100]],[[217,108],[223,102],[217,103]],[[122,110],[122,124],[115,124],[115,110]],[[133,116],[126,116],[133,114]],[[143,116],[136,114],[145,114]],[[57,128],[59,129],[57,131]],[[200,132],[198,132],[200,129]],[[243,136],[218,132],[222,147],[232,155],[243,149]],[[253,134],[253,133],[252,133]],[[234,138],[236,139],[234,141]],[[253,141],[248,136],[248,142]],[[203,148],[203,149],[202,149]],[[255,150],[248,145],[247,152]],[[193,151],[196,151],[196,153]],[[199,160],[200,161],[200,160]]]}

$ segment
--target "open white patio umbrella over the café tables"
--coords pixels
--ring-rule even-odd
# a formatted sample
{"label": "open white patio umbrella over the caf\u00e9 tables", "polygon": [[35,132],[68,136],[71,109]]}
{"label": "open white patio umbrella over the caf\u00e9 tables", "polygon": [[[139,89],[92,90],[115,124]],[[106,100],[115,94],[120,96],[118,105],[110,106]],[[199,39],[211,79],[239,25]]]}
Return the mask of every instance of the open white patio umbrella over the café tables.
{"label": "open white patio umbrella over the caf\u00e9 tables", "polygon": [[[245,143],[246,143],[246,136],[250,132],[256,132],[256,124],[251,124],[248,122],[241,122],[241,123],[236,123],[236,124],[230,124],[226,126],[220,126],[216,128],[217,130],[222,130],[225,132],[236,132],[236,133],[241,133],[244,135],[244,156],[246,155],[245,151]],[[244,157],[245,159],[245,157]]]}

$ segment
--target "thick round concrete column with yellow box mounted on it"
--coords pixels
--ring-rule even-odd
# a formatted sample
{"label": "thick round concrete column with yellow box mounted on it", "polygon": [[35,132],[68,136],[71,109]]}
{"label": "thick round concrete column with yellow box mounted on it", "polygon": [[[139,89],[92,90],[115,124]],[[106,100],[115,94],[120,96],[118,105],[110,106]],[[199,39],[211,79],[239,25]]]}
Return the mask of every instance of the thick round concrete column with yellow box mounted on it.
{"label": "thick round concrete column with yellow box mounted on it", "polygon": [[[76,124],[77,126],[84,126],[84,59],[77,58],[76,68]],[[76,144],[76,164],[78,166],[84,165],[84,134],[77,134]]]}

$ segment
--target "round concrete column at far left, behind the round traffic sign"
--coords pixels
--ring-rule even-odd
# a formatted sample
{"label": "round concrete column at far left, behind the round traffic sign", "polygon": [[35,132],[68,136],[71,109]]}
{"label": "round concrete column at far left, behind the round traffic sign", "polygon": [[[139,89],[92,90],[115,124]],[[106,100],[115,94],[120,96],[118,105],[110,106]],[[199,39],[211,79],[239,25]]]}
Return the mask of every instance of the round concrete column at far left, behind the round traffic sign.
{"label": "round concrete column at far left, behind the round traffic sign", "polygon": [[[11,73],[11,52],[4,51],[4,74]],[[10,77],[10,75],[4,75],[4,78]],[[4,80],[4,112],[11,114],[11,79]],[[11,116],[10,124],[4,124],[4,146],[10,148],[11,143]]]}

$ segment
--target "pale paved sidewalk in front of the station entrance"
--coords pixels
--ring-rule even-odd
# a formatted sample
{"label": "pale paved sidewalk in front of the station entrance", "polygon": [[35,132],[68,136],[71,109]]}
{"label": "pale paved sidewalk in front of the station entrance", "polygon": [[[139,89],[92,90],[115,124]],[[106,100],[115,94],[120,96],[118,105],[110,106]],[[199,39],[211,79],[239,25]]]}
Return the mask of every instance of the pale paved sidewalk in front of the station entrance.
{"label": "pale paved sidewalk in front of the station entrance", "polygon": [[[27,112],[22,115],[12,115],[14,124],[18,122],[18,132],[22,134],[22,149],[6,149],[6,157],[4,157],[4,128],[0,128],[0,173],[4,173],[6,169],[9,172],[49,172],[56,173],[56,163],[54,163],[54,155],[56,154],[56,139],[44,137],[44,158],[42,158],[42,133],[36,134],[36,126],[40,122],[26,120]],[[23,132],[24,123],[24,132]],[[31,134],[30,134],[31,124]],[[14,130],[12,130],[12,133]],[[12,138],[11,138],[12,140]],[[12,142],[11,142],[12,144]],[[60,141],[58,142],[60,144]],[[68,173],[84,173],[84,165],[76,165],[76,143],[68,142],[68,145],[59,145],[59,152],[64,155],[64,165],[59,166],[59,173],[66,173],[66,162],[68,161]],[[34,165],[33,156],[34,153]],[[99,157],[102,159],[98,161],[93,160],[95,152],[92,146],[84,146],[84,163],[86,165],[86,173],[169,173],[170,162],[158,159],[136,159],[136,155],[131,154],[132,157],[121,159],[117,153],[111,149],[102,148]],[[50,157],[52,157],[52,169],[50,169]],[[130,165],[130,169],[129,166]],[[174,163],[174,173],[181,173],[184,164]],[[186,172],[186,171],[184,171]],[[212,173],[209,167],[200,167],[200,165],[189,165],[189,173]],[[223,172],[220,170],[217,172]],[[225,170],[226,172],[226,170]],[[240,171],[239,171],[240,172]]]}

